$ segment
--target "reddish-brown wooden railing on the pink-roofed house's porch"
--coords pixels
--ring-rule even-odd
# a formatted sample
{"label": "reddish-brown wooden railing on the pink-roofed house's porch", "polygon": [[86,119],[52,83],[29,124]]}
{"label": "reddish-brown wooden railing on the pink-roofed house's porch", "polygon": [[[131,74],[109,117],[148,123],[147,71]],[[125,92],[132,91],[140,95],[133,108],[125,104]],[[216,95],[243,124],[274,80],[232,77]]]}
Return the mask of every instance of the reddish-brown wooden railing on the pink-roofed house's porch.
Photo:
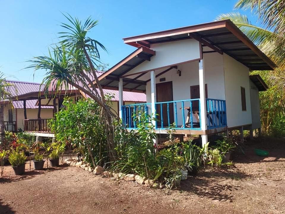
{"label": "reddish-brown wooden railing on the pink-roofed house's porch", "polygon": [[50,133],[50,129],[47,126],[48,120],[49,119],[25,119],[24,131]]}

